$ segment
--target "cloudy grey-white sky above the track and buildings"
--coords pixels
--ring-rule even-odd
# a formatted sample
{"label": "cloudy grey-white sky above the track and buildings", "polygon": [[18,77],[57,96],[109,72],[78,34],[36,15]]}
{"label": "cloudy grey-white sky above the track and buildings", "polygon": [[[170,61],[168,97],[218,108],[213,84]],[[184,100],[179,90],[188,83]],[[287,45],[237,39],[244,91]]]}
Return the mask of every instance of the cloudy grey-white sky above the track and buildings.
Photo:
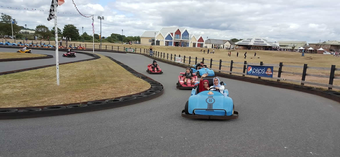
{"label": "cloudy grey-white sky above the track and buildings", "polygon": [[[18,25],[35,29],[47,21],[51,0],[0,0],[0,12],[13,16]],[[191,34],[212,39],[248,38],[255,35],[270,41],[319,42],[340,40],[339,0],[74,0],[79,11],[95,15],[95,33],[140,36],[162,27],[187,28]],[[12,8],[7,8],[12,7]],[[15,8],[21,8],[15,9]],[[23,10],[29,8],[30,10]],[[32,11],[36,9],[37,11]],[[39,10],[45,10],[39,11]],[[72,0],[58,7],[58,27],[74,24],[91,33],[91,19],[77,14]],[[63,14],[67,13],[67,14]],[[71,14],[70,14],[71,13]]]}

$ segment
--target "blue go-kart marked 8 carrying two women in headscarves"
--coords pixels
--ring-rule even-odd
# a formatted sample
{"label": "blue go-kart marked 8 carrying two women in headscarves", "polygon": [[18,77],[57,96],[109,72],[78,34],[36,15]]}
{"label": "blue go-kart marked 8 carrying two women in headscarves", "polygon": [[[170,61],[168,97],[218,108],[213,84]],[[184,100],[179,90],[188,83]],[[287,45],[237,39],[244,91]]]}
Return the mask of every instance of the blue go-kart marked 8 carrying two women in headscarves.
{"label": "blue go-kart marked 8 carrying two women in headscarves", "polygon": [[[212,86],[213,78],[203,78]],[[220,82],[221,85],[225,85]],[[211,88],[213,89],[213,88]],[[225,89],[224,94],[219,90],[199,91],[199,83],[191,90],[191,96],[182,110],[182,117],[194,119],[237,119],[238,112],[234,110],[233,99]]]}

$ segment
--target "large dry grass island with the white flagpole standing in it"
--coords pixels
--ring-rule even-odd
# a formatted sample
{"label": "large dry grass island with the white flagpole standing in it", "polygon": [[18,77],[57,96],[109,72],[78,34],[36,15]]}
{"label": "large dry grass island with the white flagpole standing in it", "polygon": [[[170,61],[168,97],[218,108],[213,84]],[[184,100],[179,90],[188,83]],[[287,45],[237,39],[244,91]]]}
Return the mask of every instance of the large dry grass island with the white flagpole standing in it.
{"label": "large dry grass island with the white flagpole standing in it", "polygon": [[[99,54],[98,54],[99,55]],[[0,108],[31,107],[110,99],[150,88],[150,84],[101,58],[0,76]]]}

